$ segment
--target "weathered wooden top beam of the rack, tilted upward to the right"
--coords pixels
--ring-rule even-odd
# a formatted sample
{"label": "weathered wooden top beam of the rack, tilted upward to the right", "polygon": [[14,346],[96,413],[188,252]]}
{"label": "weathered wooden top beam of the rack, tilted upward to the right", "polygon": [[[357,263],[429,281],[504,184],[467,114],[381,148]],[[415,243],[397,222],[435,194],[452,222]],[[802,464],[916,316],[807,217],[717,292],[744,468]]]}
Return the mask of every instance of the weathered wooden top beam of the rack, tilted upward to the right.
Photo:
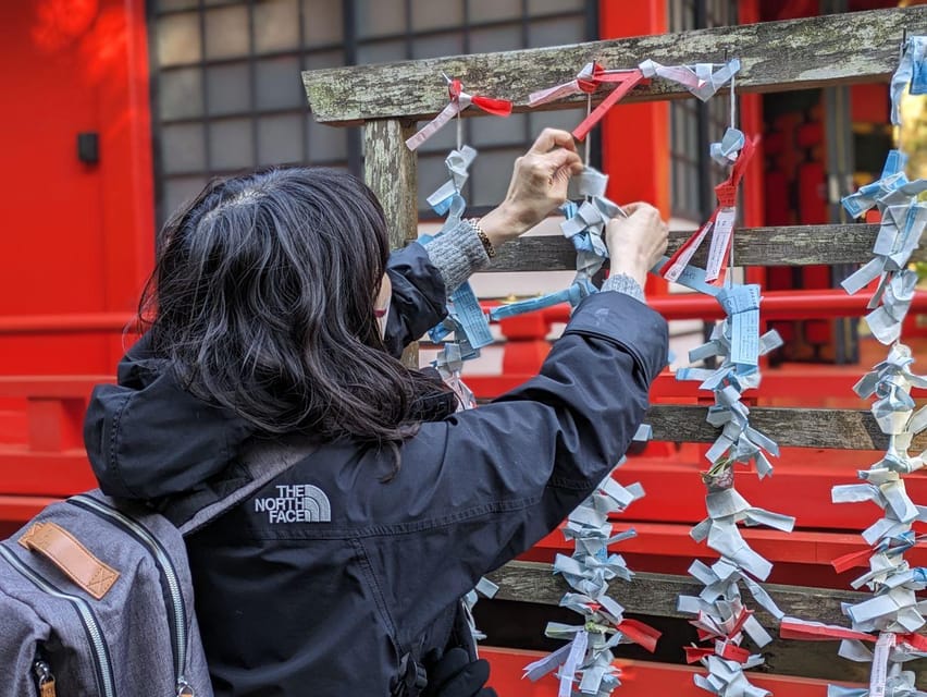
{"label": "weathered wooden top beam of the rack, tilted upward to the right", "polygon": [[[739,91],[784,91],[826,85],[886,81],[898,65],[903,32],[927,30],[927,7],[724,26],[571,46],[454,56],[419,61],[309,71],[302,82],[316,119],[346,125],[368,119],[427,119],[447,103],[442,73],[459,77],[473,94],[510,99],[528,110],[528,96],[572,80],[589,61],[635,68],[651,58],[665,64],[719,62],[727,54],[743,65]],[[600,93],[601,99],[605,93]],[[626,101],[683,97],[675,83],[654,80]],[[585,97],[544,105],[563,109]],[[472,114],[471,114],[472,112]],[[468,110],[467,115],[479,115]],[[567,124],[569,125],[569,124]]]}

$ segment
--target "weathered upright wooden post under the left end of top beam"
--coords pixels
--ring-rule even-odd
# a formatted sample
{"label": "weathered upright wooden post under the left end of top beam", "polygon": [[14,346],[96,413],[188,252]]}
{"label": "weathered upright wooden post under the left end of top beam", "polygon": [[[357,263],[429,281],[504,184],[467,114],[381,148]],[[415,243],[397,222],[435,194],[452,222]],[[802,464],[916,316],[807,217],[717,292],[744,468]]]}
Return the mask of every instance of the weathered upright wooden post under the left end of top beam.
{"label": "weathered upright wooden post under the left end of top beam", "polygon": [[[415,123],[376,119],[363,126],[363,179],[383,205],[390,246],[398,249],[418,237],[418,176],[416,154],[406,147]],[[419,367],[419,345],[403,352],[403,363]]]}

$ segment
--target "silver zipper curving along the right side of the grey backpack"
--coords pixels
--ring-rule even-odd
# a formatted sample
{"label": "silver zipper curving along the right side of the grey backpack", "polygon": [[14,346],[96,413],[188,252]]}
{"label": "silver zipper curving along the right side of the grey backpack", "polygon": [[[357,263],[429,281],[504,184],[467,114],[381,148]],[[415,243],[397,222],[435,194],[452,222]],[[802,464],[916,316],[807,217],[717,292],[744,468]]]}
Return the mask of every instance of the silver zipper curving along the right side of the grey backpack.
{"label": "silver zipper curving along the right side of the grey backpack", "polygon": [[184,594],[181,591],[177,570],[171,561],[168,551],[147,527],[108,503],[85,494],[71,497],[67,499],[67,503],[89,511],[120,527],[123,531],[134,537],[143,547],[147,548],[154,558],[154,564],[161,572],[168,587],[165,606],[168,608],[168,624],[171,627],[171,649],[174,655],[176,694],[185,697],[187,695],[191,696],[194,694],[193,689],[184,676],[187,663],[186,603],[184,602]]}

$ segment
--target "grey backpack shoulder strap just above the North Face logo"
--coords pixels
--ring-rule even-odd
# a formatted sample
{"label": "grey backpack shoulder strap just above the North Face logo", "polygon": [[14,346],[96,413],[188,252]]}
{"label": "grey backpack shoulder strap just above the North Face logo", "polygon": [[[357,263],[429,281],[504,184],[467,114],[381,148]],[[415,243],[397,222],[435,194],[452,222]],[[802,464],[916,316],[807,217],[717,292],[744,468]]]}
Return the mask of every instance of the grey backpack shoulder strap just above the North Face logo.
{"label": "grey backpack shoulder strap just above the North Face logo", "polygon": [[238,462],[210,481],[206,489],[163,501],[158,506],[159,512],[176,525],[184,537],[193,535],[317,449],[318,444],[305,436],[254,439],[245,445]]}

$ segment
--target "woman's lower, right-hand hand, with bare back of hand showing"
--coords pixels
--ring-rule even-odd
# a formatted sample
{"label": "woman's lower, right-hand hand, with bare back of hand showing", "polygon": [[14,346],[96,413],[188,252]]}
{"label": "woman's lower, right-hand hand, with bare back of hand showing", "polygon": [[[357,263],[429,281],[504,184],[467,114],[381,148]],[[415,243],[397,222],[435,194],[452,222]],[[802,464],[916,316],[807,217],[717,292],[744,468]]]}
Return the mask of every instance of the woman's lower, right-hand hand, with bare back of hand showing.
{"label": "woman's lower, right-hand hand, with bare back of hand showing", "polygon": [[644,286],[647,271],[659,261],[669,233],[659,211],[650,204],[623,207],[627,218],[613,218],[605,229],[613,273],[625,273]]}

